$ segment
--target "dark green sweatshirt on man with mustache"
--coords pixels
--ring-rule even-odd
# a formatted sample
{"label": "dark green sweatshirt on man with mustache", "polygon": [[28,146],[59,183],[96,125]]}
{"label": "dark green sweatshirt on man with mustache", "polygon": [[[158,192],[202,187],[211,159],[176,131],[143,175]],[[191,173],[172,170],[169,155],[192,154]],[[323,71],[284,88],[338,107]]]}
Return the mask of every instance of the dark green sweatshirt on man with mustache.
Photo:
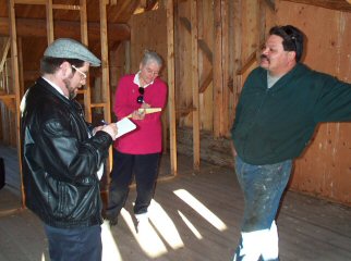
{"label": "dark green sweatshirt on man with mustache", "polygon": [[267,71],[249,75],[237,107],[232,139],[255,165],[299,157],[320,122],[351,121],[351,84],[298,63],[271,88]]}

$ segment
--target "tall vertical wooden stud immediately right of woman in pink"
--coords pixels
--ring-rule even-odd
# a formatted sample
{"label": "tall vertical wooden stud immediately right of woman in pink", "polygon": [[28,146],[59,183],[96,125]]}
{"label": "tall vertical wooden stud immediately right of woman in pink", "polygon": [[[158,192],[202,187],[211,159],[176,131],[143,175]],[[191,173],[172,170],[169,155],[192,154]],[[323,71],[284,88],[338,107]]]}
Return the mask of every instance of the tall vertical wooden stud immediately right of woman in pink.
{"label": "tall vertical wooden stud immediately right of woman in pink", "polygon": [[174,77],[174,3],[167,0],[167,70],[168,70],[168,114],[169,150],[171,172],[177,175],[177,132],[175,132],[175,77]]}

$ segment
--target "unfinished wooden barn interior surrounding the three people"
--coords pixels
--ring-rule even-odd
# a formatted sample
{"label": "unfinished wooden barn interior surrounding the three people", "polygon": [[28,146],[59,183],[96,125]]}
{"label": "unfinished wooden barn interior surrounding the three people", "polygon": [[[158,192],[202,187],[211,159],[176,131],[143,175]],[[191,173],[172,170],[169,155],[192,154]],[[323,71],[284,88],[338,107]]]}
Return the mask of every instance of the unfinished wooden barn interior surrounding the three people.
{"label": "unfinished wooden barn interior surrounding the three people", "polygon": [[[230,260],[244,204],[230,128],[271,26],[301,28],[303,63],[351,82],[350,0],[0,0],[0,260],[49,260],[40,222],[23,204],[19,108],[53,39],[80,40],[102,61],[77,97],[93,123],[114,121],[117,84],[137,72],[145,49],[165,60],[168,103],[153,201],[164,227],[155,222],[145,237],[135,233],[132,186],[123,222],[105,229],[111,251],[105,260]],[[351,260],[350,128],[320,124],[295,160],[278,217],[281,260]],[[107,163],[102,197],[111,157]]]}

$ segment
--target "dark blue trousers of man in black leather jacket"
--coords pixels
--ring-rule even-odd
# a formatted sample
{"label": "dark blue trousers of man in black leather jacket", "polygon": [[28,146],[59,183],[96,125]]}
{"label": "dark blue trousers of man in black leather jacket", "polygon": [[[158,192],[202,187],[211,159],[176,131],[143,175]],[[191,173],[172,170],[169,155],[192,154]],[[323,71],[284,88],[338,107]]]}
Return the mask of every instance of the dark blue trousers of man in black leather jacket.
{"label": "dark blue trousers of man in black leather jacket", "polygon": [[51,261],[101,261],[101,226],[57,228],[45,225]]}

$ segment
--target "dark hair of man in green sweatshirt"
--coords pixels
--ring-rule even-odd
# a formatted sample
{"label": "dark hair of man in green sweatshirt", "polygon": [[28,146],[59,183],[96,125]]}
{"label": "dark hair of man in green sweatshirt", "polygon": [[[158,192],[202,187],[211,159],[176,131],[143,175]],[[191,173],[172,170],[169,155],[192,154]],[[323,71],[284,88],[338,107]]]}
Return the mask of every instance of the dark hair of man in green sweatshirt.
{"label": "dark hair of man in green sweatshirt", "polygon": [[285,51],[294,51],[296,53],[295,60],[300,62],[303,53],[303,33],[292,25],[274,26],[269,30],[269,35],[280,36]]}

